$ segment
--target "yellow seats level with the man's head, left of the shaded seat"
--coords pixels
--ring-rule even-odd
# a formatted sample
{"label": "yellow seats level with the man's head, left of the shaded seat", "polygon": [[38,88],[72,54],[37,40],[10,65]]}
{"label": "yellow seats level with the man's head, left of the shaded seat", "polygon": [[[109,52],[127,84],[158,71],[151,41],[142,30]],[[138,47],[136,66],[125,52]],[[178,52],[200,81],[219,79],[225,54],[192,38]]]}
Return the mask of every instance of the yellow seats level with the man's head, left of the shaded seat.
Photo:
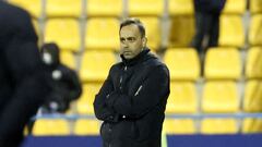
{"label": "yellow seats level with the man's head, left of the shaded seat", "polygon": [[[146,27],[148,46],[157,49],[160,46],[160,22],[157,17],[141,17]],[[116,17],[94,17],[86,21],[85,48],[119,50],[119,20]],[[36,29],[37,23],[35,23]],[[70,28],[70,29],[69,29]],[[64,32],[67,30],[67,32]],[[79,21],[74,19],[51,19],[46,22],[44,41],[56,41],[62,49],[79,51],[81,44]]]}

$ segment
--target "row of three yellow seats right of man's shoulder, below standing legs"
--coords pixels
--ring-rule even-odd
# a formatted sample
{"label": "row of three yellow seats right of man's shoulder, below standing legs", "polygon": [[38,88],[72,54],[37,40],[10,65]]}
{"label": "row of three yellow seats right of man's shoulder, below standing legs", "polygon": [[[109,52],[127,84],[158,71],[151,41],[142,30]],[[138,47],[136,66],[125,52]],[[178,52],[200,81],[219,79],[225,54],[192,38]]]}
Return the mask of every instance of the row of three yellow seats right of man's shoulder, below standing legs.
{"label": "row of three yellow seats right of man's shoulder, below standing legs", "polygon": [[[261,47],[248,50],[245,63],[247,78],[262,77],[261,53]],[[171,79],[199,79],[200,63],[194,49],[168,49],[163,60],[170,70]],[[206,79],[240,79],[242,75],[241,62],[240,52],[236,48],[211,48],[205,57],[204,77]]]}

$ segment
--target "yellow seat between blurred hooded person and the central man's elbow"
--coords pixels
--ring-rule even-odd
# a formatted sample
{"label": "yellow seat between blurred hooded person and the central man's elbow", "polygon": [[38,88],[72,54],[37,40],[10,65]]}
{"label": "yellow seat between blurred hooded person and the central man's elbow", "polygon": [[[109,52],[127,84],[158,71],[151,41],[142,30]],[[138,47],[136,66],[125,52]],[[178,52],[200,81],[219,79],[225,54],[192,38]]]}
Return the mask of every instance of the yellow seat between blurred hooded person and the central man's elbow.
{"label": "yellow seat between blurred hooded person and the central man's elbow", "polygon": [[76,111],[81,114],[94,114],[93,102],[99,91],[102,83],[86,83],[83,86],[83,94],[76,101]]}

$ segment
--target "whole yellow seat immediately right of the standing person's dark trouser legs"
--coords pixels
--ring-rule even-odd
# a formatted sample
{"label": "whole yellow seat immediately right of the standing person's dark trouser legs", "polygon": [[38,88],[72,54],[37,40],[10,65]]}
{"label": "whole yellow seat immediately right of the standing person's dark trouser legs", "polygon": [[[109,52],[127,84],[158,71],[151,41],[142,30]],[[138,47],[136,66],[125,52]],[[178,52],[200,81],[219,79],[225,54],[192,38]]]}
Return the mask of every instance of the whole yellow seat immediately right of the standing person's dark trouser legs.
{"label": "whole yellow seat immediately right of the standing person's dark trouser legs", "polygon": [[219,46],[238,48],[243,47],[245,32],[241,16],[224,14],[221,16],[219,26]]}

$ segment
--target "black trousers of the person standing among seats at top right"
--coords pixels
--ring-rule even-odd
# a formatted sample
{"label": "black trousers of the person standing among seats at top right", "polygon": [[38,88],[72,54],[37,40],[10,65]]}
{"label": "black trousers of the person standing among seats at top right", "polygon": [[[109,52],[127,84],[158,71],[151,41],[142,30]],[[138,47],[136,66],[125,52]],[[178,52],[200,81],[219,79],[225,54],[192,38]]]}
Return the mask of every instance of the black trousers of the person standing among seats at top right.
{"label": "black trousers of the person standing among seats at top right", "polygon": [[[192,40],[199,53],[203,53],[210,47],[218,45],[219,36],[219,13],[195,12],[195,35]],[[203,41],[207,38],[207,44]]]}

